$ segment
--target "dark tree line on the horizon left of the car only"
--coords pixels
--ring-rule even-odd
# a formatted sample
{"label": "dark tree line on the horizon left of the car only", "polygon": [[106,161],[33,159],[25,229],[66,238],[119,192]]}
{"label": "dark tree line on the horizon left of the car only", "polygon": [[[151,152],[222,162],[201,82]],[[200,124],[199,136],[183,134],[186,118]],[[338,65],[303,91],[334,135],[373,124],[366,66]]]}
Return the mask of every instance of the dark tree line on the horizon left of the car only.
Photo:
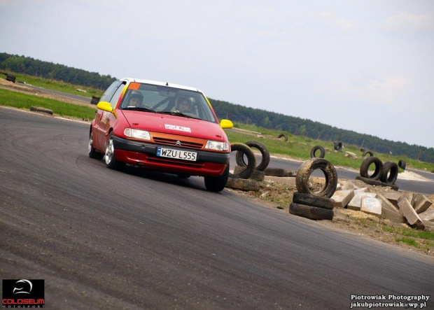
{"label": "dark tree line on the horizon left of the car only", "polygon": [[52,80],[62,80],[65,83],[94,87],[105,90],[116,78],[102,76],[97,72],[89,72],[82,69],[75,69],[63,64],[43,62],[31,57],[10,55],[6,52],[0,53],[0,69],[24,73],[29,76],[40,76]]}

